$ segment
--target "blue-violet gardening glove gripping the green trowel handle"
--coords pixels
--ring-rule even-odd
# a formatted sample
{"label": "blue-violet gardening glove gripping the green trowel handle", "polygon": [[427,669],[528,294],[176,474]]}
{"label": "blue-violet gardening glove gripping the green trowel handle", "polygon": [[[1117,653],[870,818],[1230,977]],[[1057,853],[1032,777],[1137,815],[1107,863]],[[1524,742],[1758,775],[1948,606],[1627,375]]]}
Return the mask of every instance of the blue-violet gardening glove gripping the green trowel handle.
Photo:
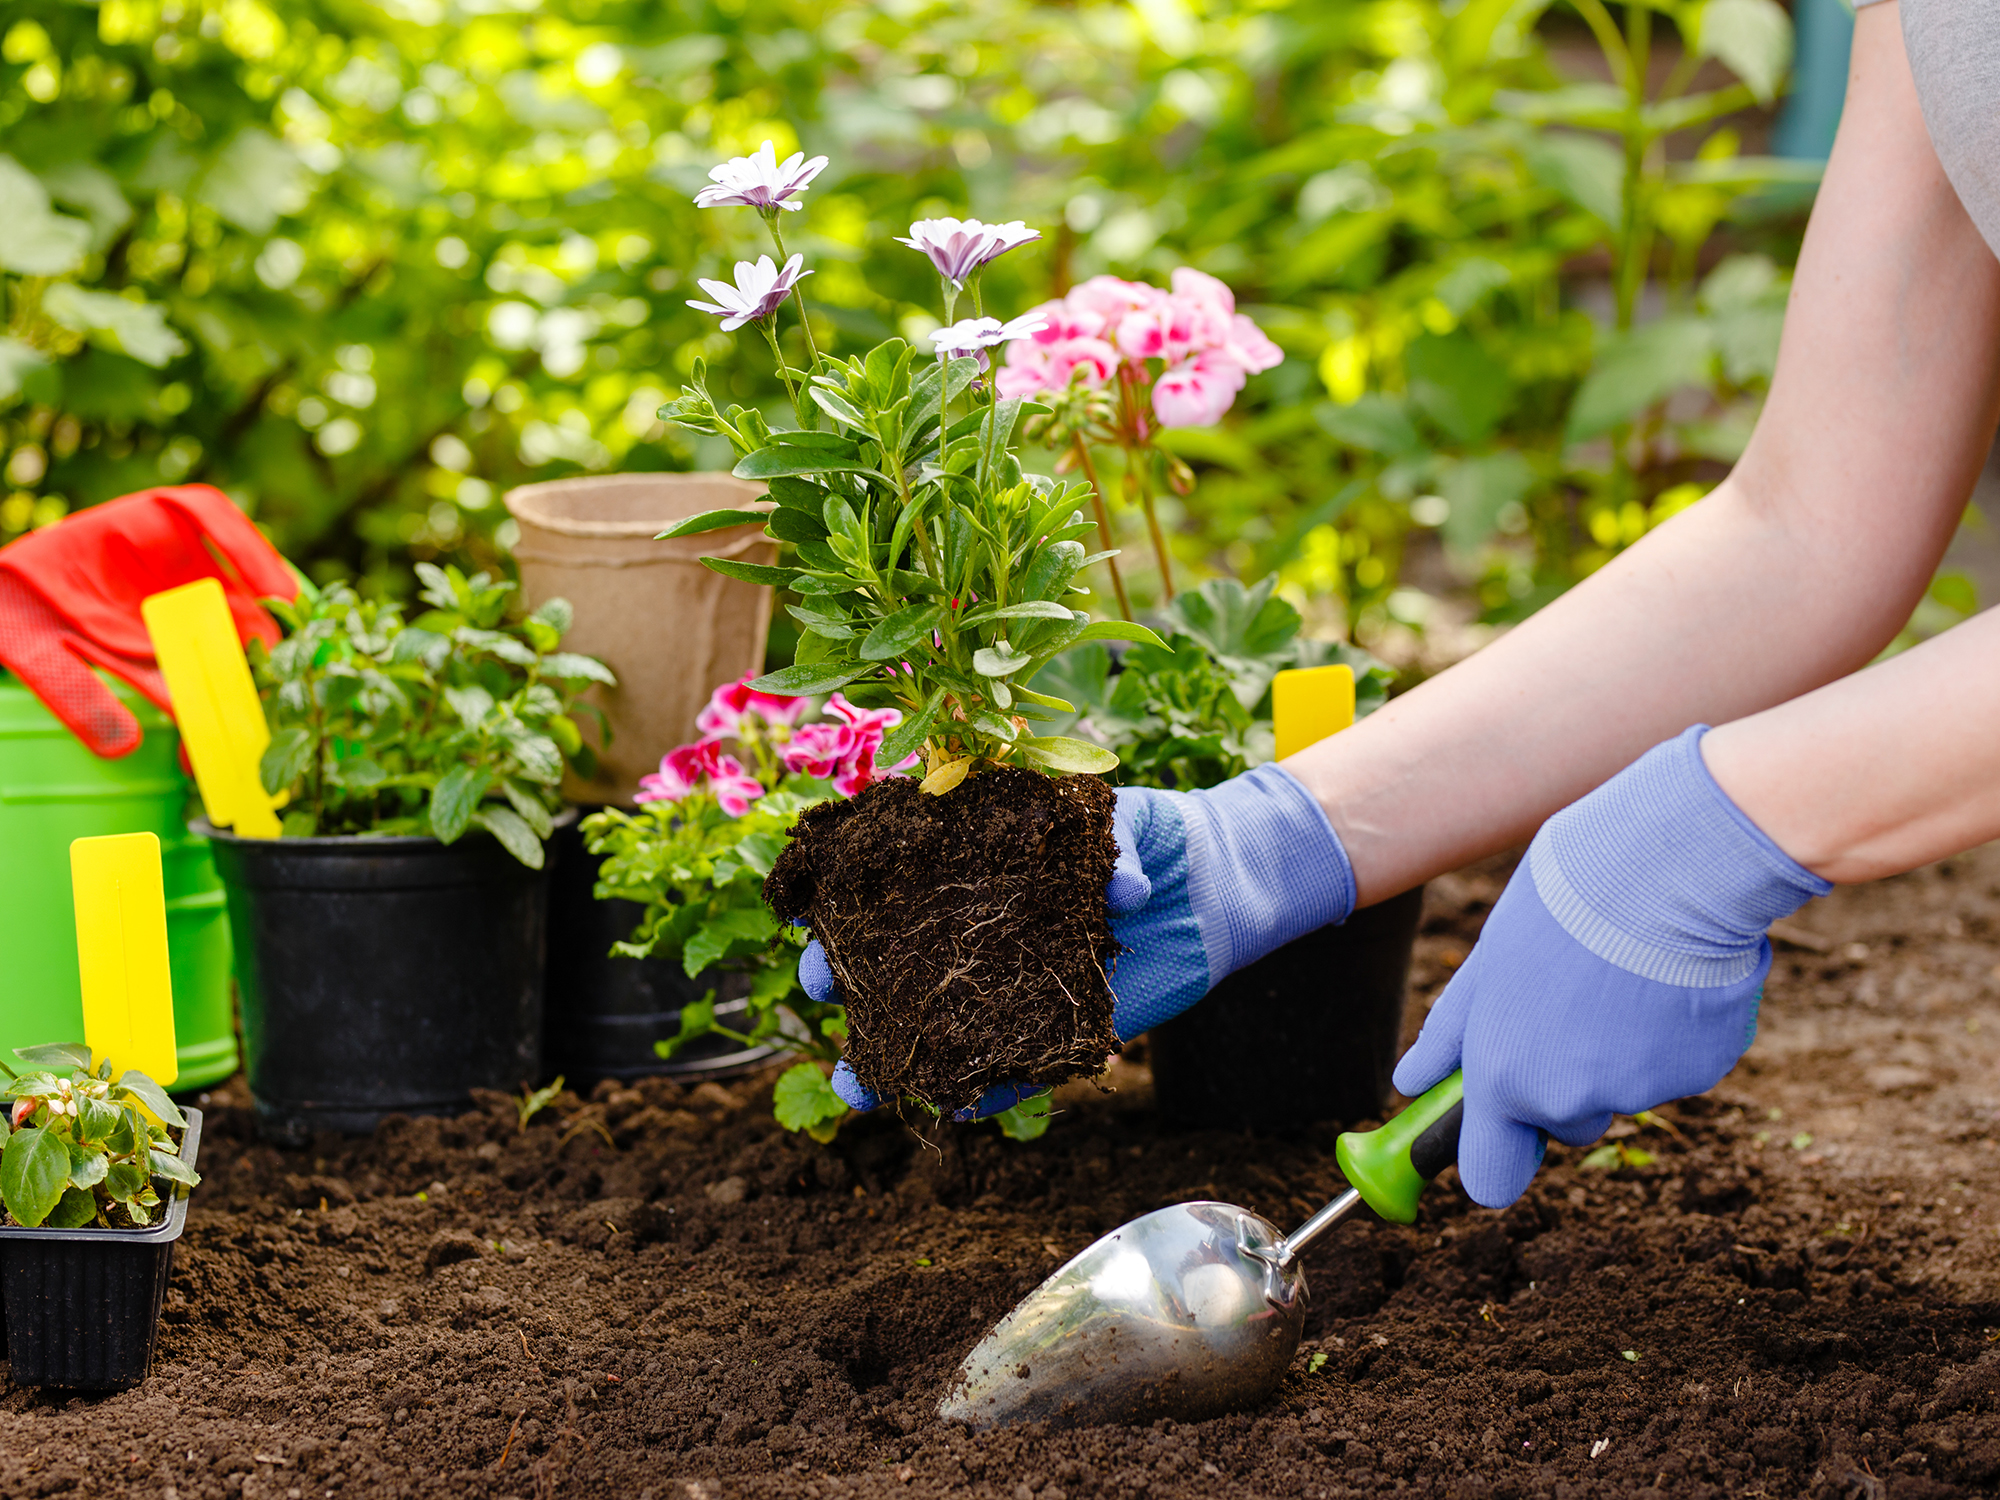
{"label": "blue-violet gardening glove gripping the green trowel handle", "polygon": [[1402,1062],[1412,1098],[1464,1068],[1458,1178],[1528,1190],[1546,1136],[1714,1088],[1756,1036],[1764,930],[1832,886],[1716,786],[1706,724],[1558,812]]}

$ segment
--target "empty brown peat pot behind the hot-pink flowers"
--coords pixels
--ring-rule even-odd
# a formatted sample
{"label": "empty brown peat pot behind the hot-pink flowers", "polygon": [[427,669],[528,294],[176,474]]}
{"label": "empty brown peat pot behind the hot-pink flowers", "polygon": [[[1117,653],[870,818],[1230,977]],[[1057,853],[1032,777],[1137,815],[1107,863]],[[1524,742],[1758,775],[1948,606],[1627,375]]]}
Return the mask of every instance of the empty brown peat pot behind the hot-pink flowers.
{"label": "empty brown peat pot behind the hot-pink flowers", "polygon": [[584,694],[604,710],[612,736],[606,746],[594,718],[578,714],[598,770],[588,782],[572,770],[564,792],[576,802],[630,804],[638,778],[696,736],[694,716],[716,684],[764,668],[770,588],[724,578],[700,560],[778,560],[762,526],[654,538],[704,510],[764,508],[764,486],[728,474],[612,474],[524,484],[508,490],[506,508],[520,524],[514,558],[524,602],[570,600],[576,622],[564,650],[596,656],[618,676],[616,688]]}

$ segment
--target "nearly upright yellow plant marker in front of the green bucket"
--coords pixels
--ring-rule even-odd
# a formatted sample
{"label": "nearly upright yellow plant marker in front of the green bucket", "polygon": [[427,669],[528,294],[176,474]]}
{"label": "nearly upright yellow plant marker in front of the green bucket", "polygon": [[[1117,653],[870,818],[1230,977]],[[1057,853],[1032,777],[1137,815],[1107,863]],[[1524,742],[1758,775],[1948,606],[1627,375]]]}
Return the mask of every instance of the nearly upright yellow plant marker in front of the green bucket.
{"label": "nearly upright yellow plant marker in front of the green bucket", "polygon": [[70,844],[76,968],[84,980],[84,1042],[158,1084],[180,1076],[174,980],[166,964],[166,886],[156,834]]}

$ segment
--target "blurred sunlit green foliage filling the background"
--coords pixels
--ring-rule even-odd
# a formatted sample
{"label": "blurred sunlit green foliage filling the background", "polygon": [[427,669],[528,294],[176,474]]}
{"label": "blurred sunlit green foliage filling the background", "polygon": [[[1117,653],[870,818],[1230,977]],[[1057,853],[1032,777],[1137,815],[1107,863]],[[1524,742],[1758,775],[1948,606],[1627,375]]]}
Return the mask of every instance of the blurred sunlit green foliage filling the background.
{"label": "blurred sunlit green foliage filling the background", "polygon": [[1774,0],[10,0],[0,540],[206,480],[406,592],[492,566],[516,482],[726,468],[654,412],[696,358],[778,390],[684,306],[762,248],[694,190],[772,138],[832,158],[786,224],[822,344],[928,332],[916,216],[1046,230],[998,312],[1200,266],[1288,358],[1170,434],[1190,572],[1370,638],[1414,544],[1506,618],[1740,450],[1812,174],[1738,128],[1788,58]]}

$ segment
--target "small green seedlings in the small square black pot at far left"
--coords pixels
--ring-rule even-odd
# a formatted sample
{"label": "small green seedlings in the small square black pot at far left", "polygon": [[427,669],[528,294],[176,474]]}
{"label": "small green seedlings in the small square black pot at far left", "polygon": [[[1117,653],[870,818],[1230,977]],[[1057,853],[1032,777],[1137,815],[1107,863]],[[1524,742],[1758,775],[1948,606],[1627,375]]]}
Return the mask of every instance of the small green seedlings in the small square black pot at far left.
{"label": "small green seedlings in the small square black pot at far left", "polygon": [[120,1074],[110,1058],[92,1070],[76,1042],[20,1048],[20,1058],[30,1072],[0,1064],[0,1098],[14,1100],[0,1118],[0,1202],[14,1224],[144,1228],[160,1212],[158,1180],[200,1184],[170,1134],[188,1116],[152,1078]]}

